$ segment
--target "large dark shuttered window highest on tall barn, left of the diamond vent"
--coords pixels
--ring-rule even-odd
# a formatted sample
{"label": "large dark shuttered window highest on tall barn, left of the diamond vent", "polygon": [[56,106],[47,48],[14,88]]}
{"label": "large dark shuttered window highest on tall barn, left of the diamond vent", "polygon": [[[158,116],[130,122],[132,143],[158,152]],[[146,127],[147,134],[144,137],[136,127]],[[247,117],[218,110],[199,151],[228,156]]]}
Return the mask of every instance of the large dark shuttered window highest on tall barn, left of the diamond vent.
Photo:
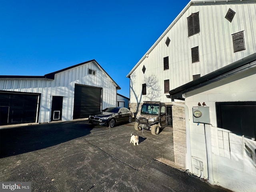
{"label": "large dark shuttered window highest on tall barn, left of the diamond vent", "polygon": [[192,36],[200,32],[199,12],[191,14],[188,18],[188,36]]}

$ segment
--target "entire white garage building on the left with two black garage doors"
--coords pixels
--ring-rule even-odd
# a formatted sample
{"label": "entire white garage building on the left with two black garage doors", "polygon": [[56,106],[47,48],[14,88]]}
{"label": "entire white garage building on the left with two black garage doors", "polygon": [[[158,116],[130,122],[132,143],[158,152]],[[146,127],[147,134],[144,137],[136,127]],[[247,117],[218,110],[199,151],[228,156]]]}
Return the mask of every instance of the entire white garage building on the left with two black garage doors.
{"label": "entire white garage building on the left with two black garage doors", "polygon": [[44,76],[0,76],[0,126],[87,118],[116,106],[118,89],[96,60]]}

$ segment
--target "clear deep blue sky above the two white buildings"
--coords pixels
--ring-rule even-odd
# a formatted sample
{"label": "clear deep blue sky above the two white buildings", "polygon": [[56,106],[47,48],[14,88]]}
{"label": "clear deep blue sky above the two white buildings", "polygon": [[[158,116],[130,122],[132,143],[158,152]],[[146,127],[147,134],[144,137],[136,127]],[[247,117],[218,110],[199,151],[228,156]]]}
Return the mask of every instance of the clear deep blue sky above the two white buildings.
{"label": "clear deep blue sky above the two white buildings", "polygon": [[43,76],[95,59],[129,78],[189,0],[0,0],[0,75]]}

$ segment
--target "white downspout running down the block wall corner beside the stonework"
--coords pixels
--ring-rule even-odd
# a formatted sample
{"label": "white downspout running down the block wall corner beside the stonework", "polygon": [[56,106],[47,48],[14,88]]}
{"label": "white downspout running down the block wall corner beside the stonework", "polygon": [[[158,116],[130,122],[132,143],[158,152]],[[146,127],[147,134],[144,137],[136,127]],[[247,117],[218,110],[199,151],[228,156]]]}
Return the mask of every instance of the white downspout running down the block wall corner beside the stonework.
{"label": "white downspout running down the block wall corner beside the stonework", "polygon": [[189,128],[189,116],[188,106],[174,102],[172,98],[172,104],[185,108],[185,121],[186,121],[186,170],[192,173],[192,156],[191,156],[191,145],[190,145],[190,128]]}

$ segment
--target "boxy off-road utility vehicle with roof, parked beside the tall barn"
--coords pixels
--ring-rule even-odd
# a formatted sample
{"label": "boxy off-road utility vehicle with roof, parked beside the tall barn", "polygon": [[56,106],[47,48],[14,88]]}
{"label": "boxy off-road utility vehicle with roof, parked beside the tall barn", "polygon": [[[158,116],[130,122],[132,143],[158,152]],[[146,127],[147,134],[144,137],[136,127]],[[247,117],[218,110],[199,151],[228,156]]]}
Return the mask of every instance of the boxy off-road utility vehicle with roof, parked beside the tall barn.
{"label": "boxy off-road utility vehicle with roof, parked beside the tall barn", "polygon": [[143,129],[148,129],[153,135],[158,135],[159,129],[167,125],[166,104],[152,101],[144,102],[135,121],[135,130],[142,130],[143,132]]}

